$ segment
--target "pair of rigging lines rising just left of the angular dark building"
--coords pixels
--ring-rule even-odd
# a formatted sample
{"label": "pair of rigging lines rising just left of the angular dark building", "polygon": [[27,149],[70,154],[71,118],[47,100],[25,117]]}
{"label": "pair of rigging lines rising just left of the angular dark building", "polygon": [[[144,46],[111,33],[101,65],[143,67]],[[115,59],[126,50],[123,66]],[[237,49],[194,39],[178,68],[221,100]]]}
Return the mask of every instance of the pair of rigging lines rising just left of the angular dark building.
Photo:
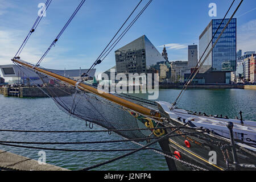
{"label": "pair of rigging lines rising just left of the angular dark building", "polygon": [[[117,42],[117,40],[118,40],[118,42],[123,38],[123,36],[126,34],[126,32],[127,31],[129,31],[130,30],[130,28],[131,28],[131,26],[133,26],[133,24],[137,21],[137,19],[139,18],[139,16],[141,16],[141,14],[144,12],[144,10],[146,10],[147,9],[147,7],[150,5],[150,3],[152,2],[153,0],[150,0],[150,1],[148,1],[148,3],[143,7],[143,9],[139,12],[139,14],[137,15],[137,16],[135,16],[135,18],[133,19],[133,21],[129,24],[129,26],[127,26],[126,27],[126,29],[122,32],[122,34],[121,35],[119,35],[119,37],[114,41],[114,43],[115,42]],[[141,2],[140,2],[141,3]],[[135,8],[135,9],[137,9],[137,7]],[[134,12],[134,11],[133,11]],[[132,13],[133,14],[133,13]],[[130,15],[131,16],[131,15]],[[130,16],[129,16],[129,18],[130,18]],[[128,19],[129,19],[128,18]],[[127,20],[128,20],[127,19]],[[126,22],[127,22],[127,20],[126,20]],[[125,22],[125,23],[126,23]],[[124,26],[124,24],[123,24],[123,26]],[[123,27],[122,26],[122,27]],[[122,29],[122,27],[118,30],[118,32]],[[118,32],[117,32],[117,34],[118,34]],[[115,34],[115,36],[117,36],[117,34]],[[114,38],[115,38],[115,36],[114,36]],[[121,38],[120,38],[121,37]],[[112,41],[114,40],[114,38],[109,42],[109,44],[108,44],[108,46],[110,45],[110,43],[112,43]],[[117,42],[117,43],[118,43]],[[114,45],[114,43],[112,44],[112,46]],[[117,43],[115,44],[115,45],[117,45]],[[115,47],[115,45],[114,45],[114,47]],[[108,48],[108,46],[106,47],[106,48]],[[91,70],[91,69],[93,69],[97,64],[100,64],[105,58],[106,58],[106,56],[108,56],[109,55],[109,53],[112,51],[112,49],[114,48],[114,47],[112,47],[112,46],[110,46],[107,50],[106,50],[106,48],[104,49],[104,51],[105,51],[105,53],[104,53],[104,51],[102,51],[102,53],[100,54],[100,56],[98,56],[98,58],[97,58],[97,60],[93,63],[93,65],[88,69],[88,71],[86,72],[86,74]],[[112,47],[112,48],[111,48]],[[111,49],[110,49],[111,48]],[[110,49],[110,51],[109,51],[109,49]],[[109,52],[108,52],[109,51]],[[108,53],[107,53],[108,52]],[[107,53],[107,54],[106,54]],[[106,55],[105,55],[106,54]],[[101,58],[103,57],[105,55],[105,57],[101,60]],[[97,63],[97,61],[99,61],[99,63]]]}

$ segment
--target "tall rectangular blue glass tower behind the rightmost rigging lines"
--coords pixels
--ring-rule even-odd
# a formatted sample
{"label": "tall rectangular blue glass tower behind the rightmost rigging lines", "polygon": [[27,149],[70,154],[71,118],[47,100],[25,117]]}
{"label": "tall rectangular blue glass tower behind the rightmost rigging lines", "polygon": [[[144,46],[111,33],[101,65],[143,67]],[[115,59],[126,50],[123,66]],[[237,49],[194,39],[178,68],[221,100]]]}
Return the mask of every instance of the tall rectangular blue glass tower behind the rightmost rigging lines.
{"label": "tall rectangular blue glass tower behind the rightmost rigging lines", "polygon": [[[199,56],[203,61],[207,55],[210,48],[216,42],[218,36],[221,34],[226,23],[229,19],[224,19],[221,24],[220,29],[217,31],[218,26],[222,19],[213,19],[210,21],[208,26],[202,32],[199,37]],[[215,32],[217,34],[214,36]],[[218,40],[216,46],[213,48],[212,52],[208,56],[204,65],[211,67],[212,72],[226,72],[226,84],[230,83],[231,72],[236,71],[237,64],[237,19],[233,18],[229,23],[228,27],[222,34],[221,38]],[[214,36],[214,37],[213,37]],[[207,49],[207,53],[203,56],[205,49],[207,48],[210,40],[213,38],[213,42]]]}

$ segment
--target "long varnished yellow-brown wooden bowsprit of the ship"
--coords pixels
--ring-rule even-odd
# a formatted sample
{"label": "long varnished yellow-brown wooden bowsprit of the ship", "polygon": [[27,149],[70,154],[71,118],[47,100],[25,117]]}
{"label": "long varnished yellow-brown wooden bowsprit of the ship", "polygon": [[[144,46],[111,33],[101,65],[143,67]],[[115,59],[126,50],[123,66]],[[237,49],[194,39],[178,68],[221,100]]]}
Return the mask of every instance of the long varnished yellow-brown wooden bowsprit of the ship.
{"label": "long varnished yellow-brown wooden bowsprit of the ship", "polygon": [[[44,73],[44,74],[46,74],[48,76],[57,78],[58,80],[67,82],[70,85],[76,86],[76,84],[77,84],[77,81],[75,81],[75,80],[72,80],[72,79],[64,77],[64,76],[57,75],[55,73],[46,71],[46,70],[38,68],[38,67],[33,67],[32,65],[24,63],[23,61],[19,61],[19,60],[16,60],[16,59],[13,59],[13,61],[15,61],[18,64],[22,64],[22,65],[24,65],[24,66],[26,66],[28,68],[33,68],[36,71],[42,72],[42,73]],[[100,97],[103,97],[103,98],[106,98],[107,100],[112,101],[115,104],[127,107],[127,108],[129,108],[131,110],[137,111],[138,113],[141,113],[141,114],[144,114],[144,115],[152,115],[151,114],[151,110],[146,108],[146,107],[143,107],[143,106],[138,105],[138,104],[134,104],[133,102],[124,100],[124,99],[122,99],[120,97],[117,97],[117,96],[113,96],[112,94],[109,94],[109,93],[105,93],[105,92],[104,93],[100,93],[100,92],[98,92],[98,90],[96,88],[93,88],[92,86],[82,84],[81,82],[77,86],[79,86],[79,88],[81,90],[84,90],[86,92],[90,92],[90,93],[96,94],[97,96],[100,96]],[[160,114],[159,113],[156,113],[155,115],[152,115],[152,116],[160,118]]]}

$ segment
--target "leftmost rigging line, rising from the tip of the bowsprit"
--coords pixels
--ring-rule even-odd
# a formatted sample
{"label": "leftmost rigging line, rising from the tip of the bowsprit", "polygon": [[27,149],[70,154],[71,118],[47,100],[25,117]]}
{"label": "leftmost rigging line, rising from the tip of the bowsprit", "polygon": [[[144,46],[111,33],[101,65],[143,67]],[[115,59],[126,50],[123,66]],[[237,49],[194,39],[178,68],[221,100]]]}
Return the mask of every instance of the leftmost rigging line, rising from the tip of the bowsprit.
{"label": "leftmost rigging line, rising from the tip of the bowsprit", "polygon": [[52,2],[52,0],[46,1],[41,13],[38,15],[38,18],[35,20],[35,23],[33,24],[32,28],[30,29],[30,32],[28,32],[27,37],[24,39],[22,45],[20,46],[20,48],[18,49],[18,51],[16,52],[14,57],[19,57],[20,53],[23,51],[23,48],[26,46],[28,39],[30,39],[31,34],[36,30],[36,27],[38,27],[38,24],[42,20],[43,15],[46,12],[46,10],[48,9],[51,2]]}

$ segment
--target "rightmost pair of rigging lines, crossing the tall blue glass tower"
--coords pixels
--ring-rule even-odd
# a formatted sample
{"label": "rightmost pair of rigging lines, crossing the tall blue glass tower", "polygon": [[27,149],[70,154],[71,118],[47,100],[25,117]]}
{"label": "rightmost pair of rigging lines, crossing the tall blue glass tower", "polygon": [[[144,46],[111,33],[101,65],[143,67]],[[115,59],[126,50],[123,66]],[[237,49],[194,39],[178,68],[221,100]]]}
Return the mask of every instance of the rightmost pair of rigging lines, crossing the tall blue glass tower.
{"label": "rightmost pair of rigging lines, crossing the tall blue glass tower", "polygon": [[[212,46],[212,49],[208,52],[208,55],[205,57],[205,59],[203,60],[203,62],[200,63],[200,62],[201,62],[201,59],[204,57],[204,54],[207,52],[208,47],[209,47],[210,44],[212,43],[213,38],[215,37],[215,35],[217,34],[218,30],[220,29],[221,24],[224,22],[224,19],[226,18],[226,15],[228,15],[228,13],[229,13],[229,11],[230,11],[230,9],[231,9],[231,7],[233,6],[233,3],[234,3],[235,1],[236,1],[236,0],[233,0],[232,4],[230,5],[228,11],[226,12],[226,14],[225,14],[224,18],[222,19],[220,25],[218,26],[216,32],[214,33],[212,39],[210,40],[210,42],[209,42],[207,48],[205,48],[205,51],[204,51],[203,55],[201,56],[200,60],[198,61],[198,63],[197,63],[197,65],[196,65],[195,69],[193,69],[193,72],[192,72],[191,75],[189,76],[187,82],[184,84],[183,89],[180,91],[180,93],[179,93],[179,95],[177,96],[176,100],[175,100],[174,103],[172,104],[171,109],[173,109],[174,106],[177,104],[177,101],[179,100],[179,98],[180,98],[180,96],[181,96],[181,93],[183,93],[183,91],[187,89],[188,85],[191,84],[193,78],[195,78],[195,76],[196,76],[197,73],[199,72],[200,68],[203,66],[205,60],[208,58],[210,52],[212,52],[212,49],[214,48],[214,46],[215,46],[216,43],[218,42],[218,39],[220,39],[220,36],[223,34],[223,32],[225,31],[226,27],[228,26],[230,20],[233,18],[234,14],[236,14],[236,11],[237,11],[238,8],[240,7],[241,3],[243,2],[243,0],[240,2],[240,4],[238,5],[237,9],[234,11],[234,13],[233,13],[233,15],[232,15],[232,18],[229,19],[229,22],[226,24],[226,26],[225,26],[224,29],[222,30],[220,36],[218,36],[218,39],[216,40],[216,42],[214,42],[214,45]],[[200,67],[197,69],[197,66],[199,66],[199,64],[200,64]],[[197,70],[197,71],[196,71],[196,70]],[[196,72],[195,72],[195,71],[196,71]],[[195,73],[195,74],[194,74],[194,73]],[[193,74],[194,74],[194,75],[193,75]],[[193,77],[192,77],[192,75],[193,75]],[[192,79],[189,80],[191,77],[192,77]]]}

